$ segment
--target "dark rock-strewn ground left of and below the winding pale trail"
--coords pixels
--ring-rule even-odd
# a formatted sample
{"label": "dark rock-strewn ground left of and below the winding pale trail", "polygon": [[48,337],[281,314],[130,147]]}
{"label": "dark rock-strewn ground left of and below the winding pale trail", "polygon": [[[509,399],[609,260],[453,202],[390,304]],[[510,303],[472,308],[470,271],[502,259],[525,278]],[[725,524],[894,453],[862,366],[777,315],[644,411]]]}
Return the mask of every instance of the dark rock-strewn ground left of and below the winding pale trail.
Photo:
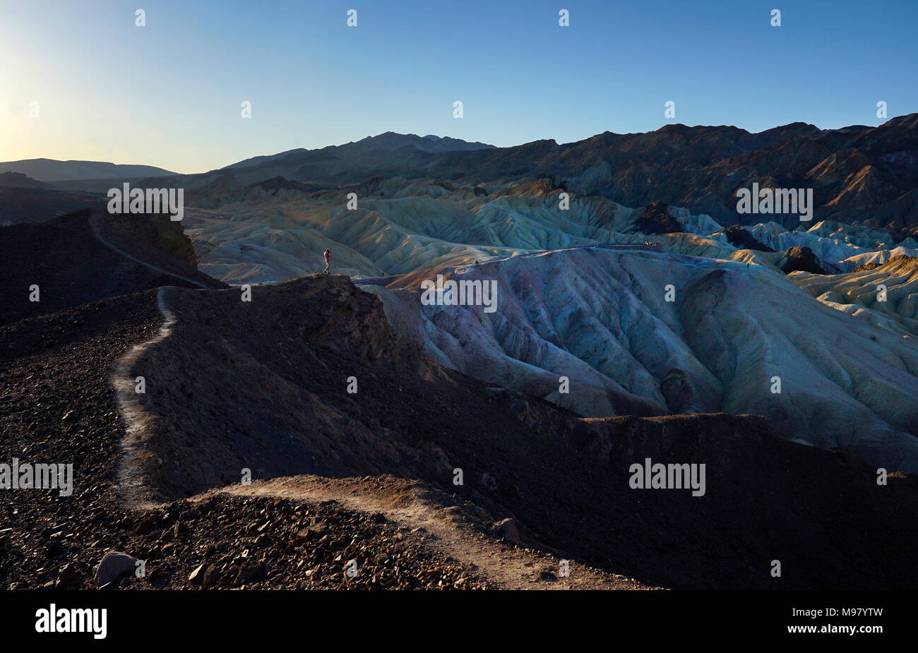
{"label": "dark rock-strewn ground left of and below the winding pale trail", "polygon": [[[154,295],[2,329],[2,450],[22,462],[73,461],[75,482],[69,497],[0,495],[0,587],[487,587],[420,535],[333,502],[218,495],[153,510],[123,504],[114,481],[124,427],[108,375],[130,343],[158,329]],[[353,578],[344,572],[350,559],[361,570]]]}

